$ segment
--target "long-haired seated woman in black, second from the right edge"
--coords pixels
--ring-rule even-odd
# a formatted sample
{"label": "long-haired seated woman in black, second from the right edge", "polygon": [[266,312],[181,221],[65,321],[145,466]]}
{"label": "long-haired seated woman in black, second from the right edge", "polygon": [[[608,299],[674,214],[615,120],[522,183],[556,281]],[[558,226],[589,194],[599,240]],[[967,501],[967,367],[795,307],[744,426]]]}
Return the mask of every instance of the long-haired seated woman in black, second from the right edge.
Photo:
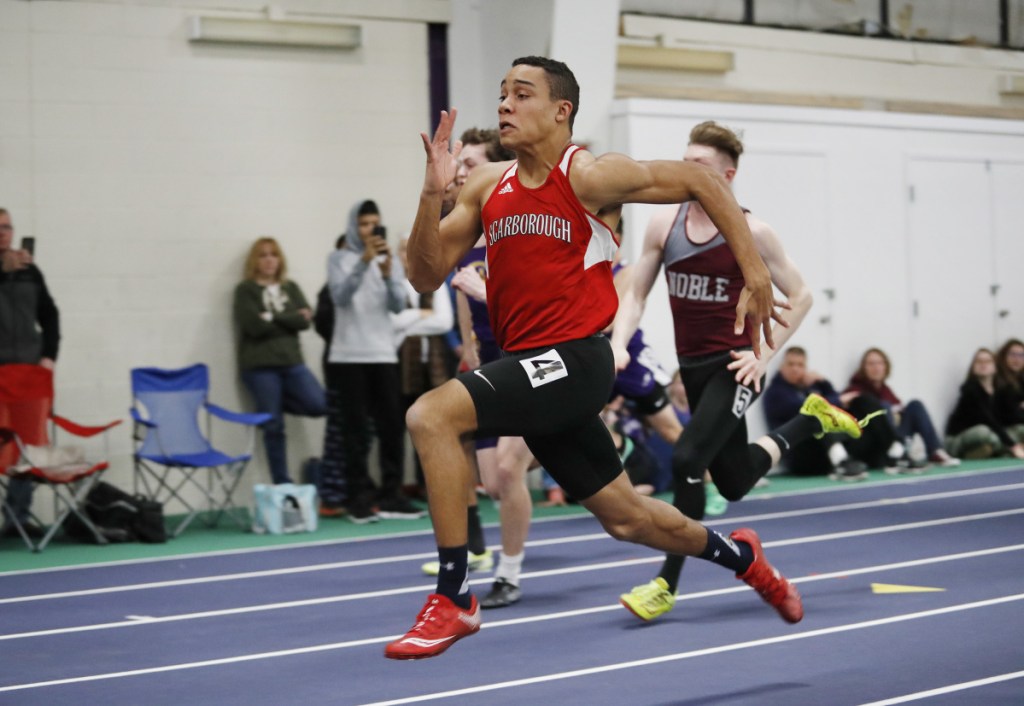
{"label": "long-haired seated woman in black, second from the right edge", "polygon": [[961,458],[990,458],[1005,451],[1024,458],[1024,444],[995,417],[995,355],[988,348],[978,348],[971,361],[946,422],[946,448]]}

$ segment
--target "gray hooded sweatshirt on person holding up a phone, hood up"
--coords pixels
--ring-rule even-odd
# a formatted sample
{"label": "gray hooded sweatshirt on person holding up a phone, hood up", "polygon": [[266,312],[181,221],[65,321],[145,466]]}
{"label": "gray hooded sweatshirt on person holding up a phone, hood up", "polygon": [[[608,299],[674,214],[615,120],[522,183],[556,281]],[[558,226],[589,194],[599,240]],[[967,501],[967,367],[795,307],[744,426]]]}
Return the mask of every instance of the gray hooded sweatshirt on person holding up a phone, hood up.
{"label": "gray hooded sweatshirt on person holding up a phone, hood up", "polygon": [[391,276],[381,276],[376,261],[362,261],[357,201],[348,212],[345,246],[327,260],[327,284],[334,301],[334,337],[329,363],[397,363],[394,328],[388,312],[409,305],[402,281],[406,274],[392,255]]}

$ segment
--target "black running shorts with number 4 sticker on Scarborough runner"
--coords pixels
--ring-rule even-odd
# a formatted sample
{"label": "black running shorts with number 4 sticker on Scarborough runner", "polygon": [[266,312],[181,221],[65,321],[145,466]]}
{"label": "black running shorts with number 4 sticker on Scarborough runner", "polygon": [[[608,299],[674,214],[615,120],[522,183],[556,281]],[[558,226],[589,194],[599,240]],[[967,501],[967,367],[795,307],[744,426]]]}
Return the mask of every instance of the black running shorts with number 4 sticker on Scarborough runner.
{"label": "black running shorts with number 4 sticker on Scarborough runner", "polygon": [[600,418],[614,377],[608,339],[592,336],[506,354],[457,379],[473,398],[477,437],[522,437],[558,485],[586,500],[623,472]]}

